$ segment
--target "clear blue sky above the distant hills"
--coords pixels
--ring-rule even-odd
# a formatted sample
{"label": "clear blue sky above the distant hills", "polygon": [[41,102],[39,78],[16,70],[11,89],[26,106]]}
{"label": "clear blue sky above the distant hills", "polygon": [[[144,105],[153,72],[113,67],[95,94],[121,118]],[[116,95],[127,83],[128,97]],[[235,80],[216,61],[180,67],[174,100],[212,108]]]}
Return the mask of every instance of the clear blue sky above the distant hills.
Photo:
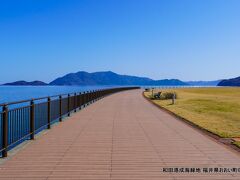
{"label": "clear blue sky above the distant hills", "polygon": [[0,83],[77,71],[240,76],[239,0],[0,0]]}

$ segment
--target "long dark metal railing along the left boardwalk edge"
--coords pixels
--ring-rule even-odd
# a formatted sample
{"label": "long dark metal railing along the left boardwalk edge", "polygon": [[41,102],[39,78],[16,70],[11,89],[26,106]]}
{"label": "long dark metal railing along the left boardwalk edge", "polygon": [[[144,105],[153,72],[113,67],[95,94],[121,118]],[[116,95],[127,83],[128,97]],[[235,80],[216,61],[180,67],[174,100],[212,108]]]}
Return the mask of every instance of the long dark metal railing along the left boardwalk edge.
{"label": "long dark metal railing along the left boardwalk edge", "polygon": [[55,122],[61,122],[71,112],[106,95],[139,87],[121,87],[62,94],[18,102],[0,104],[0,156],[44,129],[50,129]]}

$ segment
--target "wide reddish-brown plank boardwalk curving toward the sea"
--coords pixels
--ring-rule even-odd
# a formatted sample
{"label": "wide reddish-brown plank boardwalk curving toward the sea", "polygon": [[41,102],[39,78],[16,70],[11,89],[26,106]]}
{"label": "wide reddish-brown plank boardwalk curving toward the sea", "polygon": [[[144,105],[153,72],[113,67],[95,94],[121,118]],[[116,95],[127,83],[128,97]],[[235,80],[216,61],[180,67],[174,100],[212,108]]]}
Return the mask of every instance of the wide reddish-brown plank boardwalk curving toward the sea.
{"label": "wide reddish-brown plank boardwalk curving toward the sea", "polygon": [[0,164],[0,179],[240,179],[240,172],[163,172],[167,167],[240,168],[240,156],[132,90],[54,126]]}

